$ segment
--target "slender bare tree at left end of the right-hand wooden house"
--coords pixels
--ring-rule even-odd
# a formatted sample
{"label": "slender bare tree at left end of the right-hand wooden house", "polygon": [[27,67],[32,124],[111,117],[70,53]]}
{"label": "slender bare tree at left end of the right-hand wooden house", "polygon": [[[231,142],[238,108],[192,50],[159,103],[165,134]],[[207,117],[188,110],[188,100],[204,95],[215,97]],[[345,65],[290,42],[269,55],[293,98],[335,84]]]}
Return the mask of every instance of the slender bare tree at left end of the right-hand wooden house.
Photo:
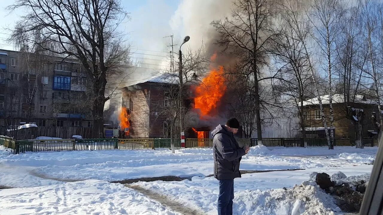
{"label": "slender bare tree at left end of the right-hand wooden house", "polygon": [[[304,101],[311,98],[311,89],[313,84],[308,70],[306,55],[302,42],[297,39],[297,35],[292,26],[290,17],[281,15],[279,34],[275,38],[273,55],[275,62],[278,62],[278,79],[275,85],[275,93],[280,96],[285,103],[285,111],[290,112],[291,116],[298,113],[299,127],[304,147],[307,147],[305,120],[309,114],[304,112]],[[289,28],[290,26],[290,28]],[[307,29],[306,29],[307,30]],[[303,32],[308,34],[309,32]]]}

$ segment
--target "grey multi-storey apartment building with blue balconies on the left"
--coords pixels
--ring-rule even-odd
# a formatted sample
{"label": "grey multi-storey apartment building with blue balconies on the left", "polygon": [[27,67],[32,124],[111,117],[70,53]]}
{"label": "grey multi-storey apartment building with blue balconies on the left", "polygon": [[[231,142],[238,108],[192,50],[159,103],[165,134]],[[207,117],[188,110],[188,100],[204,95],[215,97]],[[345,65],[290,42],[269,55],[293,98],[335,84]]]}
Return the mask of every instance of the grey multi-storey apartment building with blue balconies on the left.
{"label": "grey multi-storey apartment building with blue balconies on the left", "polygon": [[76,60],[0,49],[0,127],[92,127],[88,84]]}

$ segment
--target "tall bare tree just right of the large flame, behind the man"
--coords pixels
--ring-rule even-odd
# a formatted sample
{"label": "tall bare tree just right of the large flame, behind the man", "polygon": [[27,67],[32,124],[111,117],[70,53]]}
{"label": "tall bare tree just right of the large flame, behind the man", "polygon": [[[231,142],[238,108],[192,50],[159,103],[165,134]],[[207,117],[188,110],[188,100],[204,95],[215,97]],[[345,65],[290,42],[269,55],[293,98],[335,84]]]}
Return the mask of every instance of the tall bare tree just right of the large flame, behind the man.
{"label": "tall bare tree just right of the large flame, behind the man", "polygon": [[[273,34],[272,19],[275,16],[275,5],[268,0],[238,0],[233,3],[234,9],[230,18],[213,21],[220,38],[217,43],[223,46],[224,52],[240,56],[239,65],[246,75],[254,79],[254,110],[256,114],[258,144],[262,144],[262,119],[260,99],[260,81],[270,79],[262,73],[268,65],[268,44]],[[266,77],[265,77],[266,76]]]}

